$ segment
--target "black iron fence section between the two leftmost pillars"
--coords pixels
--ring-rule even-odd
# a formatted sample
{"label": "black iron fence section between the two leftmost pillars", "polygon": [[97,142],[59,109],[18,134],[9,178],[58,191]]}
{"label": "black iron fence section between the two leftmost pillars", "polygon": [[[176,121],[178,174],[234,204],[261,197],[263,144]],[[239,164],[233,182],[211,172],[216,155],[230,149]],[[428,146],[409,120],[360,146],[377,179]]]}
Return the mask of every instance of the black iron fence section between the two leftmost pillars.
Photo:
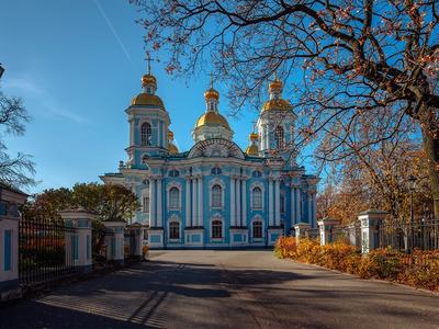
{"label": "black iron fence section between the two leftmost pillars", "polygon": [[26,287],[75,273],[77,243],[76,229],[66,227],[64,222],[25,217],[20,219],[20,284]]}

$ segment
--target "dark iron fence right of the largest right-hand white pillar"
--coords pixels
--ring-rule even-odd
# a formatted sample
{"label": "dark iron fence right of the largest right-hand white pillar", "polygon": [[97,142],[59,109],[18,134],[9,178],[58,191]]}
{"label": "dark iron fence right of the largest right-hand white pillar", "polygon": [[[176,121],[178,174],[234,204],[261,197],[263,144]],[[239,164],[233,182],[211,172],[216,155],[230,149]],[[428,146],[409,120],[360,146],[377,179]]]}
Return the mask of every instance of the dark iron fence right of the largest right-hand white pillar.
{"label": "dark iron fence right of the largest right-hand white pillar", "polygon": [[410,252],[439,249],[439,220],[420,218],[413,223],[389,220],[375,227],[380,248]]}

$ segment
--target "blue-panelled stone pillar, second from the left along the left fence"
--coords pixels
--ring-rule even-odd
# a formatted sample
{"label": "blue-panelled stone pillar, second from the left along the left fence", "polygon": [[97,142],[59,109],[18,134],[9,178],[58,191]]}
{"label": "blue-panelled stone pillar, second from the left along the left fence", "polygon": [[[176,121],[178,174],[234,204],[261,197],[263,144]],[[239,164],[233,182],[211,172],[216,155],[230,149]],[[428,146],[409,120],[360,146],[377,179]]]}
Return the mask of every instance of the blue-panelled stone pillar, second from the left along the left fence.
{"label": "blue-panelled stone pillar, second from the left along the left fence", "polygon": [[93,268],[91,222],[94,215],[82,207],[64,209],[59,215],[66,225],[66,263],[72,261],[77,272],[90,273]]}

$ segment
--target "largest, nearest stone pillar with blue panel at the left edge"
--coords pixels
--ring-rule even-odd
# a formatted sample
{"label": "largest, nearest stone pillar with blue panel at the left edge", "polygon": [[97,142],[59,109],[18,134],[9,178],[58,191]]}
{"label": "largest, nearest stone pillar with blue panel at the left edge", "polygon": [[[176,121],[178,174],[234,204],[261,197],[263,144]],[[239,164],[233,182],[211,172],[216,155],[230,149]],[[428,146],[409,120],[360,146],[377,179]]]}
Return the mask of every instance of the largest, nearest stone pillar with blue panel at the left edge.
{"label": "largest, nearest stone pillar with blue panel at the left edge", "polygon": [[18,206],[27,195],[0,184],[0,302],[21,297]]}

